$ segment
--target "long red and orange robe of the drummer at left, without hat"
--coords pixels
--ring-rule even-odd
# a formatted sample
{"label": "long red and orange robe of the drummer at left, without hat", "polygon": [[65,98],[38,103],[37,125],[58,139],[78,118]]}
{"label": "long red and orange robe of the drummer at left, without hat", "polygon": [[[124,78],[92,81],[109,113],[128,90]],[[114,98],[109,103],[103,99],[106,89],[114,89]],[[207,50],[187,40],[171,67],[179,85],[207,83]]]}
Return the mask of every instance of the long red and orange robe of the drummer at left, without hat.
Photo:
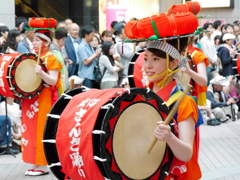
{"label": "long red and orange robe of the drummer at left, without hat", "polygon": [[[48,70],[59,71],[61,69],[61,65],[54,56],[48,58],[45,65]],[[22,133],[22,138],[25,141],[22,145],[22,158],[26,163],[47,165],[42,139],[47,120],[46,115],[55,102],[54,94],[57,91],[56,87],[58,87],[59,81],[60,76],[55,87],[45,87],[39,96],[22,100],[22,125],[25,127],[25,131]]]}

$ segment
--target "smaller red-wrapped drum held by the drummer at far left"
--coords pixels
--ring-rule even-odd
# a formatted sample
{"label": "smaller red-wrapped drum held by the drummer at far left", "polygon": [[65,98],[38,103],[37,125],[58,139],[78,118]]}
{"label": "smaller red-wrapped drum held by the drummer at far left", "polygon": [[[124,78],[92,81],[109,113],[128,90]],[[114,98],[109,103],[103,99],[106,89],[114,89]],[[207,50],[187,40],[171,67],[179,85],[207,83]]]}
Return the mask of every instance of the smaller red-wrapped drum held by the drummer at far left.
{"label": "smaller red-wrapped drum held by the drummer at far left", "polygon": [[[35,73],[37,55],[13,53],[0,55],[0,94],[12,98],[33,98],[43,89],[43,81]],[[42,69],[46,71],[40,59]]]}

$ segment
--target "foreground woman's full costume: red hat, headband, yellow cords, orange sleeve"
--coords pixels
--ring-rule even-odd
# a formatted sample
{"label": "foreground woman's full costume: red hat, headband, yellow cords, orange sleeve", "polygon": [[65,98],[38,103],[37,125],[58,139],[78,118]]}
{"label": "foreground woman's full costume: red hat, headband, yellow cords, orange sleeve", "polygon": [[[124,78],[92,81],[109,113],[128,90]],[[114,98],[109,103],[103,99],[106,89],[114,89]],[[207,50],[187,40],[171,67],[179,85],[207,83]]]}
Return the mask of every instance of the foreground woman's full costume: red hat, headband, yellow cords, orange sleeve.
{"label": "foreground woman's full costume: red hat, headband, yellow cords, orange sleeve", "polygon": [[[198,5],[198,3],[196,2]],[[193,8],[194,9],[194,8]],[[129,38],[129,42],[134,41],[150,41],[147,45],[148,48],[158,49],[166,53],[166,60],[167,60],[167,67],[164,72],[158,75],[150,76],[148,78],[158,78],[164,75],[164,78],[157,84],[161,89],[156,92],[165,102],[168,104],[169,100],[171,99],[170,96],[174,96],[181,88],[178,88],[176,81],[173,81],[167,85],[165,82],[169,76],[172,76],[179,70],[171,70],[169,68],[169,56],[173,59],[178,59],[180,64],[183,62],[181,61],[181,56],[178,50],[180,50],[180,40],[181,37],[188,37],[189,33],[193,33],[198,26],[196,22],[197,14],[195,12],[193,14],[193,9],[190,9],[186,5],[179,5],[179,6],[172,6],[169,9],[168,14],[160,14],[159,16],[151,16],[149,18],[140,19],[138,21],[130,21],[126,24],[125,27],[125,34]],[[188,20],[187,20],[188,19]],[[191,22],[189,22],[191,21]],[[180,25],[184,24],[184,28],[180,28]],[[149,30],[150,29],[150,30]],[[182,35],[182,36],[180,36]],[[169,37],[175,36],[175,37]],[[190,35],[189,35],[190,36]],[[171,39],[178,39],[178,50],[172,47],[170,44],[167,43],[167,40]],[[164,40],[160,41],[160,40]],[[191,55],[194,59],[194,63],[198,64],[202,61],[206,61],[207,59],[200,51],[192,50]],[[153,83],[150,83],[149,88],[152,89]],[[205,92],[206,90],[198,89],[198,92]],[[178,99],[178,98],[177,98]],[[176,100],[177,100],[176,99]],[[171,103],[169,104],[169,109],[172,108]],[[187,111],[186,111],[187,110]],[[193,142],[193,155],[190,161],[183,162],[178,160],[173,153],[167,151],[164,160],[161,166],[170,160],[172,163],[170,168],[165,171],[167,174],[164,179],[174,179],[174,180],[197,180],[201,178],[201,170],[198,164],[198,152],[199,152],[199,128],[198,126],[202,123],[200,112],[197,108],[197,105],[194,99],[190,96],[185,96],[183,101],[178,107],[177,113],[174,115],[174,119],[176,120],[177,124],[184,121],[189,116],[192,116],[196,126],[195,126],[195,135],[194,135],[194,142]],[[172,131],[176,137],[178,137],[178,130],[177,126],[175,127],[175,131]],[[169,148],[170,149],[170,148]]]}

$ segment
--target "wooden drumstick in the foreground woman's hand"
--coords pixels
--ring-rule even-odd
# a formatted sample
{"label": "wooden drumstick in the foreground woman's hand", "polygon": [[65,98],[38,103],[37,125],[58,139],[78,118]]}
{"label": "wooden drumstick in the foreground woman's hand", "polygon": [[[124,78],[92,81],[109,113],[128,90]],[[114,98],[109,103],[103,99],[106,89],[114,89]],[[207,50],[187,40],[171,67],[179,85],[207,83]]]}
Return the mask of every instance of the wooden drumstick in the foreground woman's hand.
{"label": "wooden drumstick in the foreground woman's hand", "polygon": [[[180,96],[180,98],[177,100],[177,102],[175,103],[175,105],[173,106],[172,110],[170,111],[170,113],[168,114],[167,118],[164,120],[165,125],[169,124],[169,122],[171,121],[171,119],[173,118],[174,114],[176,113],[178,106],[180,105],[180,103],[182,102],[183,98],[185,97],[185,95],[190,92],[192,86],[190,84],[187,85],[185,91],[183,92],[183,94]],[[153,141],[151,142],[150,146],[147,149],[147,153],[150,153],[150,151],[152,150],[152,148],[154,147],[154,145],[157,142],[157,138],[154,137]]]}

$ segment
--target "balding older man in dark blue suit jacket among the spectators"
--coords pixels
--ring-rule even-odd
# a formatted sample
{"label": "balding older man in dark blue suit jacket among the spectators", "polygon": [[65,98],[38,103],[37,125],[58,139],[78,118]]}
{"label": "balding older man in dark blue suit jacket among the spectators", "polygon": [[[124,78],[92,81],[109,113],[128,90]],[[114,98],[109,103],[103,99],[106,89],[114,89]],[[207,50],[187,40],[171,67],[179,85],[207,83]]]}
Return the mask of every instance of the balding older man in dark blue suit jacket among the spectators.
{"label": "balding older man in dark blue suit jacket among the spectators", "polygon": [[65,49],[68,58],[72,60],[72,64],[69,65],[69,76],[77,75],[79,61],[77,59],[77,49],[80,44],[79,39],[79,26],[76,23],[72,23],[70,26],[70,32],[65,39]]}

